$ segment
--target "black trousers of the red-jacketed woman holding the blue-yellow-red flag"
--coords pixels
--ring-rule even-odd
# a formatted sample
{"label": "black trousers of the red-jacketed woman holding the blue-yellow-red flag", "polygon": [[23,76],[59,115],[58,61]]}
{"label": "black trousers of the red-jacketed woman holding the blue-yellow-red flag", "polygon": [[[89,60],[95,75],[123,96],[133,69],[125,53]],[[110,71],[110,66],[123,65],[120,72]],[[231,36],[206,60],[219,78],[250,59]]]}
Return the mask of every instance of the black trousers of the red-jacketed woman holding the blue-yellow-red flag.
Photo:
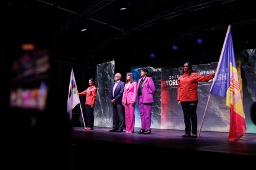
{"label": "black trousers of the red-jacketed woman holding the blue-yellow-red flag", "polygon": [[189,101],[181,102],[181,107],[184,114],[185,132],[197,134],[197,102]]}

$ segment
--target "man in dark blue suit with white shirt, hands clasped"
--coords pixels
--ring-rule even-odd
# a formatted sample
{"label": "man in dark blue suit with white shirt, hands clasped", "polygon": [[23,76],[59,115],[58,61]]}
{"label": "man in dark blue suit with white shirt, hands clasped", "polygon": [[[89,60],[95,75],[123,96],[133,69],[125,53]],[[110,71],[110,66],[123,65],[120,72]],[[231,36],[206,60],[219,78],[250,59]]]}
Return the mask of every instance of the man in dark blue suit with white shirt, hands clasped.
{"label": "man in dark blue suit with white shirt, hands clasped", "polygon": [[110,99],[113,106],[113,129],[109,132],[122,132],[124,129],[124,115],[122,111],[122,93],[124,92],[125,83],[120,79],[120,73],[114,75],[114,83],[110,90]]}

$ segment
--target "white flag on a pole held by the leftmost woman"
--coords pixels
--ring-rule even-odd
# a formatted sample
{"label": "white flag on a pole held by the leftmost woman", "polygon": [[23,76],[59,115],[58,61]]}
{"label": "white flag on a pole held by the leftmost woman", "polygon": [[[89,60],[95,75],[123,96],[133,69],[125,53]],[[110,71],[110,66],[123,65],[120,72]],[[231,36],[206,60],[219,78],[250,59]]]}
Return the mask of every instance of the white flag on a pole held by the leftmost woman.
{"label": "white flag on a pole held by the leftmost woman", "polygon": [[69,119],[72,118],[72,108],[74,108],[79,102],[80,100],[79,95],[77,94],[77,83],[75,83],[75,76],[72,68],[69,81],[69,96],[67,98],[67,113],[69,113]]}

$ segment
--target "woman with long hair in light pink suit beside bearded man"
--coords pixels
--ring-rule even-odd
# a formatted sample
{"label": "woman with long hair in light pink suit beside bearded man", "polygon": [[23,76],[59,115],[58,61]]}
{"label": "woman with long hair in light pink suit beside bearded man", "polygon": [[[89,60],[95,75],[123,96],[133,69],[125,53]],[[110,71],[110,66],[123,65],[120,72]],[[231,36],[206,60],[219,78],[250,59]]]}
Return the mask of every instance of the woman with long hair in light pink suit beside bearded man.
{"label": "woman with long hair in light pink suit beside bearded man", "polygon": [[126,133],[134,132],[135,104],[137,99],[137,83],[132,73],[126,73],[126,86],[122,95],[122,105],[126,115]]}

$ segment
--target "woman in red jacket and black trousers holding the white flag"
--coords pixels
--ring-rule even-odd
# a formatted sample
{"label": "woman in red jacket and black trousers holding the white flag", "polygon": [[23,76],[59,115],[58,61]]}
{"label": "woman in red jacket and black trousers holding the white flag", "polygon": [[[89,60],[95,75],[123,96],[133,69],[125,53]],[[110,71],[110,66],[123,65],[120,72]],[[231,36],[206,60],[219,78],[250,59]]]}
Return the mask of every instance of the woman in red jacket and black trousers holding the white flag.
{"label": "woman in red jacket and black trousers holding the white flag", "polygon": [[87,127],[86,130],[92,131],[93,124],[94,124],[94,115],[93,115],[93,108],[96,103],[96,92],[97,89],[95,87],[94,79],[89,79],[89,86],[85,91],[79,92],[78,95],[86,95],[85,98],[85,108],[86,108],[86,115],[87,115]]}

